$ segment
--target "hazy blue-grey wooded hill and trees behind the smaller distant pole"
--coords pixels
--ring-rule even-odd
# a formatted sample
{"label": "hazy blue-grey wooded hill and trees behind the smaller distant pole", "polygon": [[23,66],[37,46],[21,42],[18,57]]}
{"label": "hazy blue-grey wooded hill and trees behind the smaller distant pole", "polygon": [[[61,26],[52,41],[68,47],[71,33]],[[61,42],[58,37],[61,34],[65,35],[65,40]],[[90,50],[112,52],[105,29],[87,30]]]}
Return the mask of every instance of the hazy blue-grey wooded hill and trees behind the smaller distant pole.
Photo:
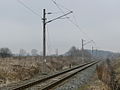
{"label": "hazy blue-grey wooded hill and trees behind the smaller distant pole", "polygon": [[[115,59],[120,57],[120,53],[114,53],[111,51],[104,51],[104,50],[89,50],[84,49],[83,51],[84,57],[95,57],[99,59]],[[71,47],[68,52],[64,54],[64,56],[82,56],[82,50],[76,48],[75,46]]]}

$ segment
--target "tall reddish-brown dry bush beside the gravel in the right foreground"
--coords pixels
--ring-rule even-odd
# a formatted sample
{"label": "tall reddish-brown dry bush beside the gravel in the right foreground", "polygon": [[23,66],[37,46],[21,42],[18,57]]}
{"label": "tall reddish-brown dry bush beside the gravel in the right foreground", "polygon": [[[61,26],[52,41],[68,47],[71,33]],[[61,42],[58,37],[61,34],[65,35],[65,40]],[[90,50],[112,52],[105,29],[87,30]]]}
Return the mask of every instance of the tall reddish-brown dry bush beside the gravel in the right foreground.
{"label": "tall reddish-brown dry bush beside the gravel in the right foreground", "polygon": [[108,59],[106,62],[97,66],[97,75],[99,80],[107,85],[107,90],[119,90],[118,82],[116,82],[117,79],[115,71]]}

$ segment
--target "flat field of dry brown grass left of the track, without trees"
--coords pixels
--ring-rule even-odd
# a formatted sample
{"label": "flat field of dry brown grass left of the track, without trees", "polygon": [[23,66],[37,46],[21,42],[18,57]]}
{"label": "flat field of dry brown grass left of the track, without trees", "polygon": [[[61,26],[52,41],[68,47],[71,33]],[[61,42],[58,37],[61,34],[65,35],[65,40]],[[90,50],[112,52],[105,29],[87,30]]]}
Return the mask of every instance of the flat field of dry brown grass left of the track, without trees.
{"label": "flat field of dry brown grass left of the track, without trees", "polygon": [[28,80],[38,74],[42,76],[43,72],[47,75],[80,63],[80,59],[71,57],[47,57],[46,63],[42,57],[0,58],[0,85]]}

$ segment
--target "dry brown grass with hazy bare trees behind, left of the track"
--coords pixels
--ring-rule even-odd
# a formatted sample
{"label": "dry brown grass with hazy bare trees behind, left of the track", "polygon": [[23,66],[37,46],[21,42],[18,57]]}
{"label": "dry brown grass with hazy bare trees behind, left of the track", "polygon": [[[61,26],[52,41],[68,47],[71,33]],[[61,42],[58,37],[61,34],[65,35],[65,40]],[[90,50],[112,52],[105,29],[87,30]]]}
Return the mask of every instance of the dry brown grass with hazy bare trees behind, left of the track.
{"label": "dry brown grass with hazy bare trees behind, left of the track", "polygon": [[65,55],[47,56],[44,60],[36,49],[28,54],[20,49],[18,55],[14,55],[10,49],[0,49],[0,85],[9,85],[34,78],[36,75],[44,76],[89,62],[90,54],[86,52],[84,62],[81,51],[72,47]]}

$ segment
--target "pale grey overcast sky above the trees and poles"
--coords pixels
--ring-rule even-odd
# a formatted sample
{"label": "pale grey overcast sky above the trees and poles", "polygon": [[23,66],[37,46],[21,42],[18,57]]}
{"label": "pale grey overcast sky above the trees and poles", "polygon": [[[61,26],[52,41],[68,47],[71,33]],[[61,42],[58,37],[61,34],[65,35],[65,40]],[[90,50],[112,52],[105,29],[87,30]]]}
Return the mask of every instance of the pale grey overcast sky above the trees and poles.
{"label": "pale grey overcast sky above the trees and poles", "polygon": [[[54,14],[48,19],[62,15],[52,0],[21,0],[40,16],[34,15],[17,0],[0,0],[0,48],[9,47],[18,53],[23,48],[42,51],[42,9]],[[67,19],[56,20],[47,25],[47,53],[66,52],[71,46],[81,48],[81,39],[102,50],[120,52],[120,0],[56,0],[72,10],[81,30]],[[62,8],[65,12],[67,10]],[[70,19],[75,21],[73,14]]]}

